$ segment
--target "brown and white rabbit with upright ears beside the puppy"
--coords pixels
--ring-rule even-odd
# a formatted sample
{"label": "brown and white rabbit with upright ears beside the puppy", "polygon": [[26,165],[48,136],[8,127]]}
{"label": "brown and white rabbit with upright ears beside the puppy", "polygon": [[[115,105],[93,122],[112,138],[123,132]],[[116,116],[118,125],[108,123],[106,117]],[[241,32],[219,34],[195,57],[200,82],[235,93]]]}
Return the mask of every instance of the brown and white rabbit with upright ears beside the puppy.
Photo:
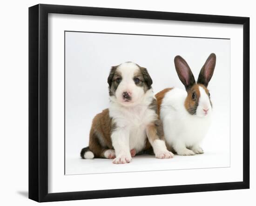
{"label": "brown and white rabbit with upright ears beside the puppy", "polygon": [[207,86],[215,69],[216,55],[209,55],[197,82],[181,56],[176,56],[174,63],[186,90],[166,88],[155,95],[167,148],[178,155],[201,154],[204,152],[200,143],[209,130],[212,117],[212,102]]}

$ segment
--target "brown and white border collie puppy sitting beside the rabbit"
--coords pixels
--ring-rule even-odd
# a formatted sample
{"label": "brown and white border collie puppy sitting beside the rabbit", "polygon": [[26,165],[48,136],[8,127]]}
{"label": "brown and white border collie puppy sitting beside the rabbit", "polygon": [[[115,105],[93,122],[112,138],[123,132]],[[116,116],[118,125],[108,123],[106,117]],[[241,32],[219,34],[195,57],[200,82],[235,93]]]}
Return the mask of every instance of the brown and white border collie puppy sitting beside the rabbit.
{"label": "brown and white border collie puppy sitting beside the rabbit", "polygon": [[133,62],[112,66],[108,76],[109,108],[94,117],[89,146],[81,150],[81,158],[129,163],[132,156],[151,146],[156,158],[174,156],[165,145],[152,83],[147,69]]}

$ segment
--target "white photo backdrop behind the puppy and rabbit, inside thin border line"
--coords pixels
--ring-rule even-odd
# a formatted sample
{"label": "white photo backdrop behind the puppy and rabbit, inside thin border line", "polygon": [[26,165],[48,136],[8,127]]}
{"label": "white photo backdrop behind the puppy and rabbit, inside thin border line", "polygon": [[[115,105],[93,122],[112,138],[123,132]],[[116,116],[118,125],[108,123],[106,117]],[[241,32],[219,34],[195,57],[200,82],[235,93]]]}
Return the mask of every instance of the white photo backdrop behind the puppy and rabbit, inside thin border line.
{"label": "white photo backdrop behind the puppy and rabbit, inside thin border line", "polygon": [[[65,36],[66,174],[229,166],[230,40],[81,32],[66,32]],[[185,89],[175,70],[176,55],[188,62],[197,80],[210,53],[217,56],[216,70],[208,86],[214,113],[209,133],[202,142],[204,154],[175,156],[168,161],[149,156],[145,158],[152,161],[144,158],[121,168],[108,159],[80,158],[81,148],[88,146],[92,119],[108,108],[107,78],[111,66],[133,61],[146,67],[157,93],[166,87]]]}

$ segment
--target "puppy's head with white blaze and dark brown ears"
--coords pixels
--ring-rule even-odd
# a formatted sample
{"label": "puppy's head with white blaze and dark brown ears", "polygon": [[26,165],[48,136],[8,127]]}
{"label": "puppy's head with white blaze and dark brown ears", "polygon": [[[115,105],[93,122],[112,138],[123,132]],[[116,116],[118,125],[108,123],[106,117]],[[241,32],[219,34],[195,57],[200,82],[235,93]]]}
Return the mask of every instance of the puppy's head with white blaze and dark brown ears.
{"label": "puppy's head with white blaze and dark brown ears", "polygon": [[146,68],[133,62],[112,66],[108,76],[111,98],[123,106],[135,106],[151,89],[152,79]]}

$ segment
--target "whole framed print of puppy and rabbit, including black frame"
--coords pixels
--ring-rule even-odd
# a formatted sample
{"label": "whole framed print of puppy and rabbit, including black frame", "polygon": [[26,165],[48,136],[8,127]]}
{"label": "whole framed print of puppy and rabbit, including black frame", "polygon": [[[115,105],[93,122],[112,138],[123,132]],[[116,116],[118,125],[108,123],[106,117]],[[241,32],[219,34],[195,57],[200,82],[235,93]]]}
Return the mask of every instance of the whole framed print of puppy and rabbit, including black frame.
{"label": "whole framed print of puppy and rabbit, including black frame", "polygon": [[249,188],[249,18],[29,8],[29,198]]}

